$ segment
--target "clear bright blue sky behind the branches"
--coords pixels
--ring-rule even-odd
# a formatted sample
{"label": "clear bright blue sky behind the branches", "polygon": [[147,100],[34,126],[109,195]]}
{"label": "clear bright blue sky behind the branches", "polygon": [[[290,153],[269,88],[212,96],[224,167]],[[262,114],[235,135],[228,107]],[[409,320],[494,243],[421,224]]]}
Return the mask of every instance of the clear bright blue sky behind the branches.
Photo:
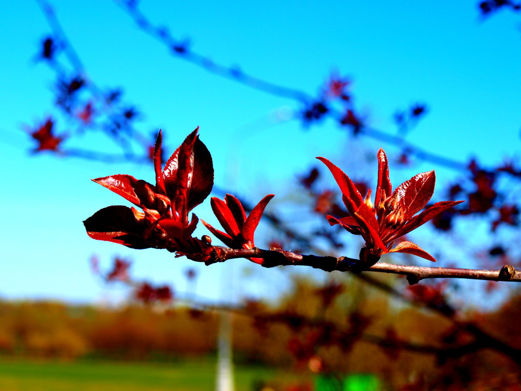
{"label": "clear bright blue sky behind the branches", "polygon": [[[144,114],[142,129],[163,128],[167,149],[173,151],[191,130],[201,127],[219,186],[247,193],[255,201],[270,192],[287,193],[295,174],[315,164],[315,156],[337,161],[357,156],[360,142],[348,143],[332,121],[305,131],[298,120],[274,124],[274,111],[300,107],[172,57],[115,3],[53,4],[89,76],[103,87],[122,87],[126,99]],[[349,75],[357,107],[371,125],[391,133],[396,108],[425,102],[429,113],[408,141],[428,151],[461,161],[478,156],[490,165],[504,156],[519,157],[521,18],[515,14],[503,12],[482,22],[476,1],[143,0],[141,8],[175,36],[189,38],[194,51],[277,84],[315,94],[330,71]],[[0,2],[0,15],[0,297],[113,299],[118,294],[90,274],[93,253],[105,266],[115,254],[129,256],[136,276],[173,282],[184,290],[182,273],[192,262],[158,250],[93,241],[81,224],[101,207],[122,203],[90,178],[122,173],[151,180],[151,165],[29,155],[31,143],[22,124],[53,113],[53,74],[33,61],[50,29],[32,1]],[[86,147],[92,146],[89,142]],[[380,146],[386,148],[367,139],[361,143],[375,153]],[[338,149],[331,150],[334,145]],[[390,155],[397,152],[387,150]],[[425,164],[413,170],[432,168],[438,170]],[[360,170],[372,175],[374,166]],[[413,173],[397,174],[394,182]],[[456,177],[439,170],[440,183],[451,176]],[[201,206],[196,213],[211,221],[208,209]],[[221,295],[215,276],[229,274],[230,267],[199,270],[199,293]],[[241,277],[241,267],[234,267],[233,273]],[[245,283],[235,282],[234,289],[249,295],[275,290],[284,276],[266,277],[272,275],[259,271]]]}

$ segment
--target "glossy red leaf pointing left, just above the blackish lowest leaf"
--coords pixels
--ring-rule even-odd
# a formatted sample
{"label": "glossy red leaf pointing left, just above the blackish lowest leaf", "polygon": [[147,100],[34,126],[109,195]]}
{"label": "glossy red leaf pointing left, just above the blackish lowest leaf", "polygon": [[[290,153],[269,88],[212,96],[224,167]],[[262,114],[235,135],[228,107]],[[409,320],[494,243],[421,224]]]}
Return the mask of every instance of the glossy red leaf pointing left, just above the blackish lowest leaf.
{"label": "glossy red leaf pointing left, just above the blackish lowest leaf", "polygon": [[139,207],[154,209],[154,186],[147,181],[135,179],[131,175],[111,175],[104,178],[92,179],[107,189],[114,191]]}

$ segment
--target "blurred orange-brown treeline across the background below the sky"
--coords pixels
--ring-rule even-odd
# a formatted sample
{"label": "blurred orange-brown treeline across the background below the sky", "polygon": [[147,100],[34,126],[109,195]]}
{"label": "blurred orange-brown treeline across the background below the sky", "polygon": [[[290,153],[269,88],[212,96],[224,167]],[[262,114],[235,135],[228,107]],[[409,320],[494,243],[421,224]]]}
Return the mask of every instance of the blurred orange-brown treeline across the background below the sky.
{"label": "blurred orange-brown treeline across the background below the sky", "polygon": [[[511,358],[493,349],[440,356],[437,349],[472,346],[479,340],[466,332],[464,322],[455,324],[355,283],[317,287],[296,281],[276,306],[244,303],[232,316],[236,361],[375,373],[393,385],[406,384],[411,374],[427,380],[442,375],[451,381],[465,374],[470,381],[519,370]],[[520,296],[494,312],[458,316],[521,349]],[[216,311],[175,302],[168,307],[131,303],[102,308],[0,301],[0,354],[147,361],[207,356],[216,351],[218,323]]]}

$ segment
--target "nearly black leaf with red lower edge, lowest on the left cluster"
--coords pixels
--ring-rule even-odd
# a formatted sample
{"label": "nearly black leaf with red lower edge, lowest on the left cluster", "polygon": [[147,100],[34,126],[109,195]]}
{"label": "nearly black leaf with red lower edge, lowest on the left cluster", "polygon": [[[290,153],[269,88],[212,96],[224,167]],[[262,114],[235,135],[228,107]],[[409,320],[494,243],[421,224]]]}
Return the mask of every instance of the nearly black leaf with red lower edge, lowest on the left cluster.
{"label": "nearly black leaf with red lower edge, lowest on the left cluster", "polygon": [[107,206],[83,222],[87,234],[97,240],[118,243],[132,249],[150,248],[144,238],[146,223],[140,221],[137,211],[127,206]]}

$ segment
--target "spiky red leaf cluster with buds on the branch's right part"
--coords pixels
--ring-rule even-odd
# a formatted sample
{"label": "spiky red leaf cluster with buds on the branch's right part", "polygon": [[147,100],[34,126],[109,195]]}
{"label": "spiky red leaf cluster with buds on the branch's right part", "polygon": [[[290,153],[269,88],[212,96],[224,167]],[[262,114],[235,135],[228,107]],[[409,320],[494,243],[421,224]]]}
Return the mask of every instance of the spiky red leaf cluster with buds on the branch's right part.
{"label": "spiky red leaf cluster with buds on the branch's right part", "polygon": [[333,174],[350,214],[342,218],[328,215],[329,223],[340,224],[351,234],[364,238],[366,247],[362,249],[360,259],[366,265],[376,263],[380,255],[388,252],[404,252],[436,261],[415,243],[402,241],[392,248],[394,241],[463,201],[437,202],[416,215],[432,197],[436,182],[435,173],[429,171],[417,174],[392,191],[387,156],[380,149],[377,157],[378,184],[374,204],[371,202],[370,189],[363,198],[353,181],[340,168],[326,158],[318,157]]}

